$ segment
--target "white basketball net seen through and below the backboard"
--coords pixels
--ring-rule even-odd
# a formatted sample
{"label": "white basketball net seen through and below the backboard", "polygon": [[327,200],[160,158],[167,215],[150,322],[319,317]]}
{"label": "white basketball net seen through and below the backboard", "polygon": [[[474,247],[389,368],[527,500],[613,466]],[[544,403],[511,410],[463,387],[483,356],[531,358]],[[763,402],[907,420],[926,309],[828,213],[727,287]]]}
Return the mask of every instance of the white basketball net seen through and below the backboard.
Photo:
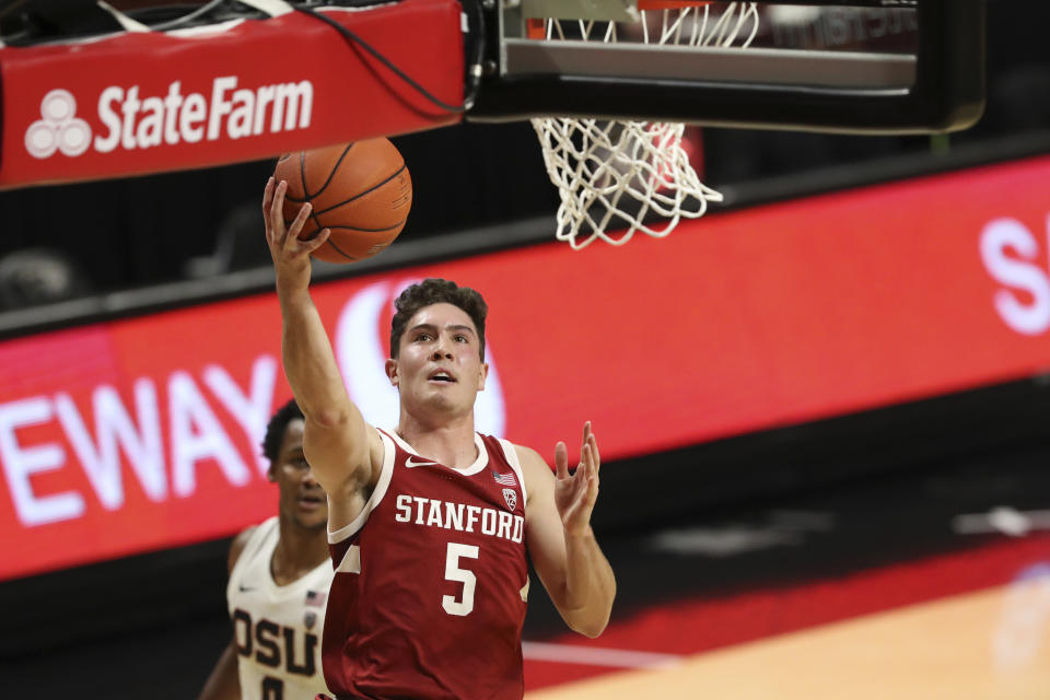
{"label": "white basketball net seen through and below the backboard", "polygon": [[[646,7],[672,9],[651,9]],[[755,2],[639,0],[640,23],[628,30],[607,21],[542,21],[540,38],[643,42],[745,48],[758,33]],[[579,36],[567,36],[567,30]],[[641,32],[638,36],[637,32]],[[682,217],[702,217],[722,195],[703,185],[681,145],[684,124],[602,119],[533,119],[550,182],[558,188],[559,241],[579,250],[596,238],[623,245],[635,231],[662,238]],[[663,219],[649,225],[651,217]],[[615,235],[609,229],[621,229]]]}

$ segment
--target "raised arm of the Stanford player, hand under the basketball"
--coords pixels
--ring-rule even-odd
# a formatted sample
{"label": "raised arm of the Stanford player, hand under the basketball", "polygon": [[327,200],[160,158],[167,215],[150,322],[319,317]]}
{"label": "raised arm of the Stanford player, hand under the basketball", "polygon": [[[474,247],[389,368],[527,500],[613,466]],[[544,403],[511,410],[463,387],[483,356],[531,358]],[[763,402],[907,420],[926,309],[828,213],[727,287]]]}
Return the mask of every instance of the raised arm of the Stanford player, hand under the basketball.
{"label": "raised arm of the Stanford player, hand under the basketball", "polygon": [[[328,240],[329,231],[325,229],[310,241],[300,240],[311,206],[303,205],[285,225],[287,190],[287,183],[276,183],[271,177],[262,198],[266,241],[273,258],[281,304],[284,373],[305,417],[303,451],[317,481],[329,494],[347,489],[358,492],[371,483],[373,451],[378,451],[377,463],[382,446],[375,429],[364,422],[350,401],[328,335],[310,296],[310,255]],[[336,521],[353,516],[330,515]]]}

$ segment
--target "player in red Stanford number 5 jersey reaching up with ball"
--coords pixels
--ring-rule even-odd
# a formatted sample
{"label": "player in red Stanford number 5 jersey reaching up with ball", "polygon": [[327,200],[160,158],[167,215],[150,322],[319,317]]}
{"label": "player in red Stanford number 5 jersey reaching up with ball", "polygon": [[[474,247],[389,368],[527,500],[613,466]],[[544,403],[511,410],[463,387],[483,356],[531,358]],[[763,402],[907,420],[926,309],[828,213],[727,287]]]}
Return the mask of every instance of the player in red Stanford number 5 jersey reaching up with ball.
{"label": "player in red Stanford number 5 jersey reaching up with ball", "polygon": [[481,296],[427,280],[397,301],[386,374],[400,395],[393,430],[350,401],[308,293],[304,205],[285,225],[287,186],[262,210],[277,275],[289,383],[305,416],[304,450],[328,493],[336,575],[323,641],[329,689],[350,698],[520,699],[527,557],[570,628],[597,637],[616,582],[591,529],[598,448],[583,430],[569,475],[533,450],[474,430],[485,388]]}

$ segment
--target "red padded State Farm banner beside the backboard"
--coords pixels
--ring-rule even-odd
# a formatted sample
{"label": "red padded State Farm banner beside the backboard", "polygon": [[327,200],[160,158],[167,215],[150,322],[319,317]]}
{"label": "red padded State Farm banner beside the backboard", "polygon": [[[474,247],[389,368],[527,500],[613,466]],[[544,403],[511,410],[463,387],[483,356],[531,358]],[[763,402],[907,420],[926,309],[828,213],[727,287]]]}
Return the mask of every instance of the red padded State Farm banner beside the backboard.
{"label": "red padded State Farm banner beside the backboard", "polygon": [[[326,9],[463,102],[455,0]],[[205,167],[458,121],[314,16],[0,47],[0,187]]]}

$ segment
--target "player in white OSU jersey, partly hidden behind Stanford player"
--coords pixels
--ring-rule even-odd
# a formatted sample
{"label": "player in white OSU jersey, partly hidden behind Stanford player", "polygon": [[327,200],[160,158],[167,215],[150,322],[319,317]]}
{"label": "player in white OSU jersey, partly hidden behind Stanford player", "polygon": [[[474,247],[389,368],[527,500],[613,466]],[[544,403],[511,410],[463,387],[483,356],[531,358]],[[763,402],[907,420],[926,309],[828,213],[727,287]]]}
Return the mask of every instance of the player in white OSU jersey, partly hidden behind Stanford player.
{"label": "player in white OSU jersey, partly hidden behind Stanford player", "polygon": [[313,700],[327,691],[320,640],[332,579],[328,506],[303,456],[303,427],[289,401],[267,428],[262,451],[280,508],[230,548],[233,639],[200,700]]}

